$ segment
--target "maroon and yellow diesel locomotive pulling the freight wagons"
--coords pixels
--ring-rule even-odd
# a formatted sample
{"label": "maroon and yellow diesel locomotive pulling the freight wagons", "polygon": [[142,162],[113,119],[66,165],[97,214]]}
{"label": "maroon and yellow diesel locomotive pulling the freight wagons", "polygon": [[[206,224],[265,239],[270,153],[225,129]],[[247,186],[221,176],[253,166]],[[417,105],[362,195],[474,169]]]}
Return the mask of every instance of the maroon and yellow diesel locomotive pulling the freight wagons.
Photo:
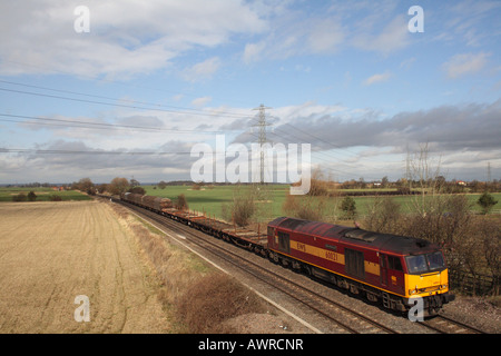
{"label": "maroon and yellow diesel locomotive pulling the freight wagons", "polygon": [[282,217],[268,224],[269,258],[405,312],[421,297],[429,315],[454,299],[438,245],[325,222]]}

